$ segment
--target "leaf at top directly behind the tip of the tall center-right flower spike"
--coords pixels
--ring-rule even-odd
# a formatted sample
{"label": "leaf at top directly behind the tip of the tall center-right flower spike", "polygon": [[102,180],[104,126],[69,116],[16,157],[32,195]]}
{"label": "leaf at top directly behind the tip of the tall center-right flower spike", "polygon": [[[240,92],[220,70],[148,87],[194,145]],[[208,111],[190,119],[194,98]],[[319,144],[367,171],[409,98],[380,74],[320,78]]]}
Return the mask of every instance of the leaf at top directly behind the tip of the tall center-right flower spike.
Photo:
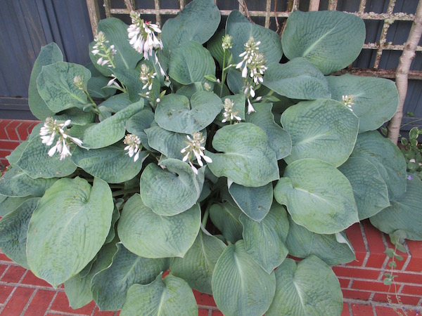
{"label": "leaf at top directly behind the tip of the tall center-right flower spike", "polygon": [[245,43],[250,37],[255,41],[260,41],[260,53],[264,54],[267,62],[279,62],[283,51],[281,50],[281,40],[279,34],[262,27],[261,25],[252,24],[245,16],[237,10],[231,11],[226,22],[226,34],[233,37],[233,53],[234,62],[240,62],[239,55],[245,51]]}

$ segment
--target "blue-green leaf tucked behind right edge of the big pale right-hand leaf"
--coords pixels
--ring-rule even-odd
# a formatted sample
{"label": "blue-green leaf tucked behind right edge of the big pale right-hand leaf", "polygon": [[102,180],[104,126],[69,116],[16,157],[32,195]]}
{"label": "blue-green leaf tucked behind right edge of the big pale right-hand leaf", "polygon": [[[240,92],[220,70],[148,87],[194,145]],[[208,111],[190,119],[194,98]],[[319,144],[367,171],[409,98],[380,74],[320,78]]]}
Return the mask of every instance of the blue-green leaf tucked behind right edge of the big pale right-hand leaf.
{"label": "blue-green leaf tucked behind right edge of the big pale right-hand leaf", "polygon": [[390,206],[387,185],[376,166],[369,160],[362,157],[350,157],[338,170],[352,185],[359,220],[369,218]]}

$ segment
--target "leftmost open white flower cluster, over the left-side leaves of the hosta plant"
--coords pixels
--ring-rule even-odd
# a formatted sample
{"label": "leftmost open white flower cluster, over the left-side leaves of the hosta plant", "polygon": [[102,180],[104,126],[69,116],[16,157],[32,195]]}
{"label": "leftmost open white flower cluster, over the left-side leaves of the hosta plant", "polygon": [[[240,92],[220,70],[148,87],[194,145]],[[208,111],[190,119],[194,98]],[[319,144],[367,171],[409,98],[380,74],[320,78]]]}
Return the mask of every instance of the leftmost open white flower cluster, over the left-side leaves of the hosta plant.
{"label": "leftmost open white flower cluster, over the left-side leaves of the hosta plant", "polygon": [[53,157],[53,154],[58,152],[60,154],[60,160],[65,159],[65,157],[72,155],[72,153],[70,152],[71,143],[75,143],[78,146],[82,145],[82,140],[72,136],[68,136],[68,134],[66,133],[69,124],[70,119],[68,119],[64,123],[58,123],[57,120],[53,119],[52,117],[46,118],[44,126],[42,126],[41,130],[39,131],[42,143],[46,144],[47,146],[51,146],[53,145],[56,136],[58,136],[56,145],[51,147],[48,152],[50,157]]}

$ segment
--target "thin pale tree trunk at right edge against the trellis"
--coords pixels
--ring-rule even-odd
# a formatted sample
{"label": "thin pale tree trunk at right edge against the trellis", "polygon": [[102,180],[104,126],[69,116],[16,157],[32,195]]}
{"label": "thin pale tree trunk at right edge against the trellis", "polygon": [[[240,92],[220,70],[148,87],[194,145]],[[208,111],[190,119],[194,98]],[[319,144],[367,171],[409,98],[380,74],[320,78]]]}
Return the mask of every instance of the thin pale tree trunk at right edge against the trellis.
{"label": "thin pale tree trunk at right edge against the trellis", "polygon": [[399,91],[399,107],[388,124],[388,138],[393,143],[397,143],[399,139],[400,126],[403,118],[403,105],[407,94],[407,81],[411,65],[411,60],[415,58],[416,46],[419,43],[422,35],[422,0],[419,0],[418,8],[416,8],[416,15],[413,25],[409,32],[409,38],[404,44],[404,50],[399,60],[396,72],[396,86]]}

